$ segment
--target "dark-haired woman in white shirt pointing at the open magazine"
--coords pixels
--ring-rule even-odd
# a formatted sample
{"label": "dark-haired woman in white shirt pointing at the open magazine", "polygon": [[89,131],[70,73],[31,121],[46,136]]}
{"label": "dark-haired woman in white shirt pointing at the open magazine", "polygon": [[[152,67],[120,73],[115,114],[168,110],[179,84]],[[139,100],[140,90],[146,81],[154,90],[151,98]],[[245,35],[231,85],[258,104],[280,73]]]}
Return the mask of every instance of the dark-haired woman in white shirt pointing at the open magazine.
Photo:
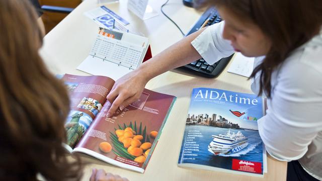
{"label": "dark-haired woman in white shirt pointing at the open magazine", "polygon": [[[252,91],[264,95],[260,136],[274,158],[288,163],[288,180],[322,179],[322,1],[200,0],[223,22],[191,34],[120,78],[108,95],[108,116],[139,98],[147,81],[204,58],[233,52],[257,57]],[[294,161],[292,161],[294,160]]]}

